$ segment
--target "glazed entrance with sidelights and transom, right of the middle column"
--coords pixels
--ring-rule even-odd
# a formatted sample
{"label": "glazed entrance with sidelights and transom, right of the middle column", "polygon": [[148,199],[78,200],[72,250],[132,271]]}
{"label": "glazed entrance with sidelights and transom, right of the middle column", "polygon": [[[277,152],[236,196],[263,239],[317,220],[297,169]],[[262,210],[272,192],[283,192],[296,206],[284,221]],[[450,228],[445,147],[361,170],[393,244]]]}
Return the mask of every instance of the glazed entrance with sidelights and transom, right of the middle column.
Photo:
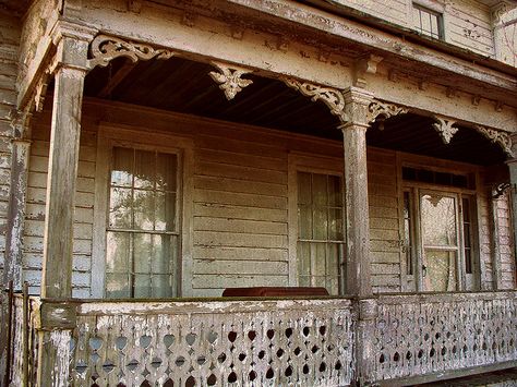
{"label": "glazed entrance with sidelights and transom, right of the middle column", "polygon": [[[423,291],[474,290],[477,287],[473,234],[476,201],[467,189],[450,189],[465,176],[418,170],[422,180],[402,168],[405,259],[408,281],[417,276]],[[436,180],[436,178],[438,178]],[[438,184],[438,182],[443,184]],[[473,182],[471,182],[473,184]]]}

